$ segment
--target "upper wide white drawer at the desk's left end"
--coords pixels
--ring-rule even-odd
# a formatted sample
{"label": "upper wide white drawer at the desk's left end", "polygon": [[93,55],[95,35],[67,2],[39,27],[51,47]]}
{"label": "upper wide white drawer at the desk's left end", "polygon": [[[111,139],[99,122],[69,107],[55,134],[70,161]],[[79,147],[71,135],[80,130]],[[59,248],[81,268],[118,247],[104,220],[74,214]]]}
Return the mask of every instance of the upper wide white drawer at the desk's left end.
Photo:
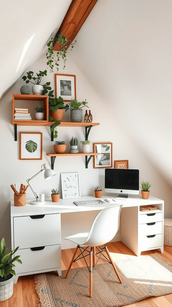
{"label": "upper wide white drawer at the desk's left end", "polygon": [[61,243],[60,214],[14,217],[14,248]]}

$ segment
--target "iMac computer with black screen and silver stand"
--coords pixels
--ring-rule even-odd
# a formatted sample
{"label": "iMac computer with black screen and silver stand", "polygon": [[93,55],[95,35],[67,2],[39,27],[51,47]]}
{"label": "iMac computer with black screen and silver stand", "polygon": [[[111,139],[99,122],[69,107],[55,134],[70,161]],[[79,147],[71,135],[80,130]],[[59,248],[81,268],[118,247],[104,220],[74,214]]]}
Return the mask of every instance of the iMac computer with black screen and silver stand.
{"label": "iMac computer with black screen and silver stand", "polygon": [[139,194],[138,169],[105,169],[105,192],[118,193],[115,198]]}

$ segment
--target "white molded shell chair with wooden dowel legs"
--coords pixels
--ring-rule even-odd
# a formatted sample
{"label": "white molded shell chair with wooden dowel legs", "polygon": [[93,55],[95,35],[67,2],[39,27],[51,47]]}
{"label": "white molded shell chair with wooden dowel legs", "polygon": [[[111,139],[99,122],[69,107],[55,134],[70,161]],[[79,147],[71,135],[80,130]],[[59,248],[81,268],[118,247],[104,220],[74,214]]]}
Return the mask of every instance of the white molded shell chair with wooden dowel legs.
{"label": "white molded shell chair with wooden dowel legs", "polygon": [[[118,271],[113,262],[113,259],[111,258],[110,253],[107,249],[107,246],[105,245],[107,242],[109,242],[110,240],[114,238],[114,236],[116,235],[118,231],[121,208],[122,208],[122,205],[117,204],[115,206],[107,207],[101,210],[98,213],[98,215],[95,217],[95,220],[92,223],[92,227],[90,230],[87,230],[81,233],[77,233],[76,235],[71,235],[69,237],[64,238],[66,240],[70,240],[72,242],[77,243],[76,250],[70,262],[65,278],[68,278],[73,262],[81,258],[84,258],[88,255],[90,256],[89,257],[90,259],[89,267],[84,258],[86,265],[88,267],[88,270],[90,272],[90,293],[89,293],[90,297],[92,297],[92,272],[97,262],[99,261],[99,258],[101,258],[101,256],[104,257],[101,259],[107,262],[110,262],[112,264],[112,267],[119,279],[119,282],[122,283],[122,280],[118,274]],[[100,247],[102,245],[104,245],[104,247]],[[78,249],[80,249],[80,255],[76,257]],[[96,253],[96,249],[98,250],[97,253]],[[87,251],[89,254],[83,255],[84,251]],[[104,251],[106,251],[107,256],[110,261],[103,255]],[[98,260],[95,262],[96,257],[98,258]]]}

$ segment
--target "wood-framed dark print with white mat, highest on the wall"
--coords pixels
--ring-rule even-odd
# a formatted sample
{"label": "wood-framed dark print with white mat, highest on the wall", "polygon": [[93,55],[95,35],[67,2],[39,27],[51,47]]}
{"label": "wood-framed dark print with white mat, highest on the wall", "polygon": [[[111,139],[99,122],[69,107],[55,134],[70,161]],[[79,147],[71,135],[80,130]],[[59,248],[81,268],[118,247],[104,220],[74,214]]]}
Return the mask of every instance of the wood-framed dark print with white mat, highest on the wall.
{"label": "wood-framed dark print with white mat, highest on the wall", "polygon": [[76,76],[55,74],[55,96],[61,96],[63,101],[76,100]]}

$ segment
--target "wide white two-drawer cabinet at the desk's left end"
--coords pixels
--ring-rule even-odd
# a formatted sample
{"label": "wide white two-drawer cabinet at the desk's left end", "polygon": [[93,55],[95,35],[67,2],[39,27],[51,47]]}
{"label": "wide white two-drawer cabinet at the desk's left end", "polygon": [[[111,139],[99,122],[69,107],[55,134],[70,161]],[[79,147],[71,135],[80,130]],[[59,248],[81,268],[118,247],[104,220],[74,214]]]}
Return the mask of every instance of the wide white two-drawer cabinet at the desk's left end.
{"label": "wide white two-drawer cabinet at the desk's left end", "polygon": [[61,275],[61,215],[39,214],[13,217],[13,244],[19,246],[22,265],[18,276],[58,270]]}

